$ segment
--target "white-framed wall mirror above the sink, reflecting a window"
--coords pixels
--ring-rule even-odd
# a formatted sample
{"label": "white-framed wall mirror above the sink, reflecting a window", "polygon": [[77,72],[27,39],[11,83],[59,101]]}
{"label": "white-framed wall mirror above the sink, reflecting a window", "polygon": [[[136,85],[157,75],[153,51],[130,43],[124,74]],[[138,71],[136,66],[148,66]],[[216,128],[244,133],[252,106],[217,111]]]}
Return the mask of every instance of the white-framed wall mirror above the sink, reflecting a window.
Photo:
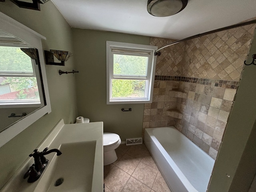
{"label": "white-framed wall mirror above the sink, reflecting a window", "polygon": [[0,147],[51,112],[42,39],[0,12]]}

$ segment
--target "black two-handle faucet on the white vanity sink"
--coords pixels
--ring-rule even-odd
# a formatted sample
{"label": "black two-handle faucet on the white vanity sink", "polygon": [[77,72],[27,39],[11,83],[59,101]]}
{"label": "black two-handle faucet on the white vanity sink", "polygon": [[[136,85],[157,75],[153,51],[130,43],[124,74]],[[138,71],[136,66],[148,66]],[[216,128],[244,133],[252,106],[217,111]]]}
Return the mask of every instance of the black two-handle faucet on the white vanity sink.
{"label": "black two-handle faucet on the white vanity sink", "polygon": [[46,147],[42,152],[38,152],[38,150],[35,149],[34,153],[29,155],[30,157],[34,157],[34,161],[35,161],[35,163],[32,164],[32,166],[24,174],[24,177],[23,177],[24,179],[26,179],[29,176],[28,178],[29,183],[32,183],[38,180],[38,178],[40,178],[42,172],[46,168],[49,160],[46,159],[44,155],[47,155],[52,152],[56,152],[57,156],[62,154],[62,152],[58,149],[51,149],[49,151],[47,150],[48,150],[48,147]]}

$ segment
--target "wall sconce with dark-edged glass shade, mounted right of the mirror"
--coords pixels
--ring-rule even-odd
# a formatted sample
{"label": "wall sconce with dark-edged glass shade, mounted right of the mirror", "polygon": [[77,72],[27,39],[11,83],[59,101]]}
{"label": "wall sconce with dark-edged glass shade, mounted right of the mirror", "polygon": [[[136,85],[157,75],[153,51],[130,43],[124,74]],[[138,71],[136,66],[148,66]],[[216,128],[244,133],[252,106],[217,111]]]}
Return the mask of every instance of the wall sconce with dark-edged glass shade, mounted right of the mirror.
{"label": "wall sconce with dark-edged glass shade, mounted right of the mirror", "polygon": [[[61,61],[61,63],[54,62],[54,56]],[[45,63],[46,65],[60,65],[65,66],[65,61],[67,61],[73,54],[68,51],[60,51],[60,50],[50,50],[44,51]]]}

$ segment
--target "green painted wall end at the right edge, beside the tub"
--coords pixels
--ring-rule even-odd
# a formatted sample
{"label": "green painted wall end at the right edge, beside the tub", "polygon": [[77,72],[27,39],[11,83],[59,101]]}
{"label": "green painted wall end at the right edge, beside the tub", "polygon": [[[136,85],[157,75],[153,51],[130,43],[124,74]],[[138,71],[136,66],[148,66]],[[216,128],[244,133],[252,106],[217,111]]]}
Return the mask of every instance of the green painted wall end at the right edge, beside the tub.
{"label": "green painted wall end at the right edge, beside the tub", "polygon": [[[247,63],[252,62],[252,54],[256,54],[256,34]],[[208,192],[247,192],[254,178],[256,153],[252,145],[255,144],[256,123],[255,77],[256,66],[245,66]],[[242,176],[243,180],[240,179]]]}

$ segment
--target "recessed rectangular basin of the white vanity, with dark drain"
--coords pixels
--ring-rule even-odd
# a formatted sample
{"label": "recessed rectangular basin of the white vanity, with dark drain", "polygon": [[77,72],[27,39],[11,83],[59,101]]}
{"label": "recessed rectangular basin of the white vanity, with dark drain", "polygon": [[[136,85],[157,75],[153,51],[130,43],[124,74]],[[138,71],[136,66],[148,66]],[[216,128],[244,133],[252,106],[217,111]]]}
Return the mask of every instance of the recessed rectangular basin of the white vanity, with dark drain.
{"label": "recessed rectangular basin of the white vanity, with dark drain", "polygon": [[[43,187],[45,192],[90,192],[95,148],[96,140],[61,144],[62,155],[54,156],[35,191]],[[55,186],[58,179],[63,182]]]}

